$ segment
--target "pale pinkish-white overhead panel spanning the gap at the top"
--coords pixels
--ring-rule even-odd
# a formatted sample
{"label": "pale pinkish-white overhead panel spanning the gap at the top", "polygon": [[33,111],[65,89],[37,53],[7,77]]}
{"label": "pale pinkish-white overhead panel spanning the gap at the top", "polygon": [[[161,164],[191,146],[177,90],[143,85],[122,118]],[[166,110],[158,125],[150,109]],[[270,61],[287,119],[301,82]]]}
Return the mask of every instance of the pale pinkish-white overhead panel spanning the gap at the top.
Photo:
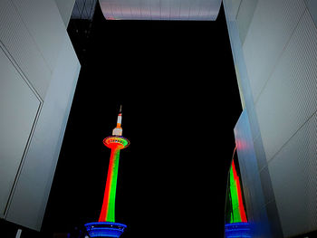
{"label": "pale pinkish-white overhead panel spanning the gap at the top", "polygon": [[221,0],[99,0],[107,20],[215,21]]}

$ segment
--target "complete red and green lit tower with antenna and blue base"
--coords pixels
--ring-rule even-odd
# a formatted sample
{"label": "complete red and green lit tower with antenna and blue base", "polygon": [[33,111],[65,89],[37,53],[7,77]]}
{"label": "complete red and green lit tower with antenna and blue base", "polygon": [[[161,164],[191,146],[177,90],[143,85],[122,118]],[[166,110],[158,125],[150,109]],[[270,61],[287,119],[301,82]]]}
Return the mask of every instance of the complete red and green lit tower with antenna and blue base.
{"label": "complete red and green lit tower with antenna and blue base", "polygon": [[85,224],[90,237],[119,237],[127,227],[114,221],[120,150],[130,145],[130,141],[122,137],[121,120],[120,108],[117,127],[112,130],[112,136],[103,139],[103,144],[111,149],[110,162],[99,222]]}

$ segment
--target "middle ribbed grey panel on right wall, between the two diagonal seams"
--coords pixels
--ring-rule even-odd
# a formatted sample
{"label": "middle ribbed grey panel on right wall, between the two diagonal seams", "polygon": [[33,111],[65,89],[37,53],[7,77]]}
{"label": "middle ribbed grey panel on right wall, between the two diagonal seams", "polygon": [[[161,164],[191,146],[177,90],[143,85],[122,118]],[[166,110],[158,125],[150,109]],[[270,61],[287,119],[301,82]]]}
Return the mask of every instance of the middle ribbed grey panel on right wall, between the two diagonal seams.
{"label": "middle ribbed grey panel on right wall, between the two diagonal seams", "polygon": [[317,30],[308,11],[255,106],[268,160],[317,109]]}

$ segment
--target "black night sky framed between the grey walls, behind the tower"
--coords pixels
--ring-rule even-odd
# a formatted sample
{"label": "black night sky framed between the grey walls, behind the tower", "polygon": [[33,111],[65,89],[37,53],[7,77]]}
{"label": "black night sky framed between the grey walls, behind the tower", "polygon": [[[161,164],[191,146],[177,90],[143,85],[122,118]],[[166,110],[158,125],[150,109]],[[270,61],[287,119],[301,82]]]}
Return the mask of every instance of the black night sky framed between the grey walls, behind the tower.
{"label": "black night sky framed between the grey walls, behind the tower", "polygon": [[222,237],[241,113],[223,6],[216,22],[149,22],[106,21],[98,5],[81,63],[43,230],[98,220],[122,104],[121,237]]}

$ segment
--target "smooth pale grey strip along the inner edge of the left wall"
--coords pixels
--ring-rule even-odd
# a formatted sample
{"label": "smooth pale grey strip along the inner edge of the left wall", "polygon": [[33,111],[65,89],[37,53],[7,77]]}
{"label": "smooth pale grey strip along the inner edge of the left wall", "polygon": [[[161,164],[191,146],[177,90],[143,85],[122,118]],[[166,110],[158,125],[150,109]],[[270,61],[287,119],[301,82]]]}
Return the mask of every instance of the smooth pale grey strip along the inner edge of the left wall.
{"label": "smooth pale grey strip along the inner edge of the left wall", "polygon": [[80,71],[67,34],[60,47],[52,81],[6,214],[6,220],[36,230],[41,229]]}

